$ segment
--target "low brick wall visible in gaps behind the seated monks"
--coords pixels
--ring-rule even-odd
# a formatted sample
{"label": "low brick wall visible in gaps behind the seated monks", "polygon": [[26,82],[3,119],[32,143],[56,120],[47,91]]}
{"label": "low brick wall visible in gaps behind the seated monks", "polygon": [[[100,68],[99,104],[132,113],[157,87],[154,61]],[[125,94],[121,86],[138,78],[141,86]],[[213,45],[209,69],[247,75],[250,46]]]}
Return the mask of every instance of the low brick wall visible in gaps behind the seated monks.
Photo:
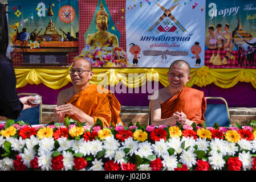
{"label": "low brick wall visible in gaps behind the seated monks", "polygon": [[[43,105],[42,124],[54,121],[54,107],[56,105]],[[256,107],[229,107],[230,123],[235,126],[238,122],[240,125],[246,125],[252,119],[256,121]],[[147,106],[121,106],[121,120],[124,126],[128,126],[130,122],[141,125],[147,125],[148,107]],[[0,117],[0,121],[7,121],[7,118]]]}

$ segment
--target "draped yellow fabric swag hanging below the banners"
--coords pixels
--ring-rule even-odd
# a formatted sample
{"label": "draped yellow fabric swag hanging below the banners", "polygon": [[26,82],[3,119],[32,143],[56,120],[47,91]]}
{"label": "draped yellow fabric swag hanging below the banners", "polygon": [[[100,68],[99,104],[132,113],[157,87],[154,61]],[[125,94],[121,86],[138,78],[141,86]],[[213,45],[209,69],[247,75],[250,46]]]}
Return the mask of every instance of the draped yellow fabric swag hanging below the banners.
{"label": "draped yellow fabric swag hanging below the banners", "polygon": [[[71,82],[70,68],[45,69],[45,68],[15,68],[17,78],[17,88],[27,84],[40,84],[52,88],[60,89]],[[167,86],[167,72],[169,68],[94,68],[94,77],[91,84],[102,86],[114,86],[122,82],[129,88],[136,88],[144,85],[147,81],[159,81]],[[191,80],[186,86],[206,86],[214,83],[220,88],[231,88],[237,82],[250,82],[256,89],[256,69],[217,69],[203,66],[201,68],[191,68]]]}

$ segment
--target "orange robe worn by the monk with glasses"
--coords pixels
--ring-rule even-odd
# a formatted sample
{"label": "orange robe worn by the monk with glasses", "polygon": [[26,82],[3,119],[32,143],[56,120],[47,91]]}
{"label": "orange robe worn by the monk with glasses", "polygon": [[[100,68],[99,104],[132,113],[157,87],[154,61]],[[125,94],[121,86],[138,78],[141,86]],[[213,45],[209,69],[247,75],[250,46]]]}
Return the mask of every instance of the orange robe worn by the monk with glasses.
{"label": "orange robe worn by the monk with glasses", "polygon": [[[105,92],[97,92],[97,88]],[[89,85],[83,91],[75,94],[68,103],[78,107],[84,113],[90,115],[94,122],[99,118],[103,122],[103,127],[110,126],[110,123],[115,126],[121,121],[119,114],[121,111],[120,103],[110,90],[104,89],[98,85]],[[75,115],[67,115],[78,121]]]}

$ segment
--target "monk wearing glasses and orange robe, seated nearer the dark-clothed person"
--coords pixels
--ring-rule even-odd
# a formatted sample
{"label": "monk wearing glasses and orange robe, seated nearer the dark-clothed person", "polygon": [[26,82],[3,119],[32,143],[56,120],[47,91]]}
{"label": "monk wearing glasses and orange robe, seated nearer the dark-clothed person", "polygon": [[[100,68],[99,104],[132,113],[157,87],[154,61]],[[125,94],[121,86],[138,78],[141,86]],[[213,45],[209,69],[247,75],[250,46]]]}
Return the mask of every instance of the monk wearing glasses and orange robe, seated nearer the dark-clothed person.
{"label": "monk wearing glasses and orange robe, seated nearer the dark-clothed person", "polygon": [[90,84],[92,76],[94,72],[90,61],[78,59],[74,62],[70,69],[73,86],[59,93],[58,106],[54,109],[55,121],[62,122],[67,116],[92,126],[99,118],[104,127],[121,122],[119,101],[110,90]]}

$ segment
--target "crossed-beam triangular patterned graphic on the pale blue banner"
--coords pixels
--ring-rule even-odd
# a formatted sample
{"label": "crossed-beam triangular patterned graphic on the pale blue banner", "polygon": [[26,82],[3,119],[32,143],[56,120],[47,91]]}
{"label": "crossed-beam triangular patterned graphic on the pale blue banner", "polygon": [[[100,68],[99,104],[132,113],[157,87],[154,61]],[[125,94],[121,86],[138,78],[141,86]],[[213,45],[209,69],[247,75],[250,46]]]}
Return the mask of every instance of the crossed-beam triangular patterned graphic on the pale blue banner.
{"label": "crossed-beam triangular patterned graphic on the pale blue banner", "polygon": [[[160,16],[160,18],[147,30],[147,32],[152,32],[153,30],[156,30],[157,33],[176,32],[176,34],[178,34],[180,31],[186,32],[186,29],[171,13],[171,11],[178,6],[178,3],[169,9],[165,9],[165,7],[159,5],[158,3],[156,4],[161,8],[162,11],[164,11],[164,14]],[[169,19],[166,19],[167,17],[169,17]]]}

